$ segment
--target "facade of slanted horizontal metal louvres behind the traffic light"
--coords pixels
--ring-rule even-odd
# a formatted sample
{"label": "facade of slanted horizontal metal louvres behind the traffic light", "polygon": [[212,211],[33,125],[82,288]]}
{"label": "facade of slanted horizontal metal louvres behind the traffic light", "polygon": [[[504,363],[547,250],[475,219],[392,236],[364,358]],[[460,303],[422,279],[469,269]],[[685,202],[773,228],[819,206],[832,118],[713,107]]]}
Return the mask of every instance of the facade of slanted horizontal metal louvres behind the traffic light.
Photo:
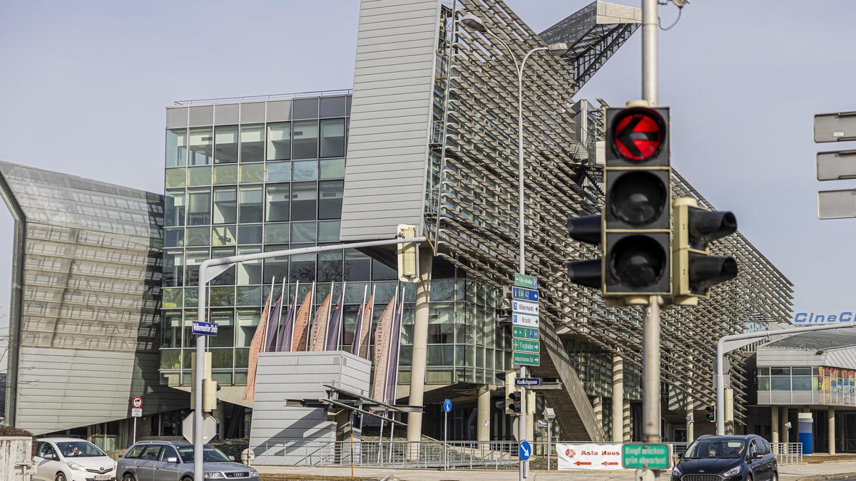
{"label": "facade of slanted horizontal metal louvres behind the traffic light", "polygon": [[[526,51],[545,44],[502,2],[461,0],[455,9],[453,14],[444,8],[445,20],[441,18],[438,55],[450,62],[445,70],[449,80],[438,68],[425,232],[436,255],[498,289],[510,284],[517,266],[517,73],[508,51],[492,35],[473,33],[460,24],[453,27],[451,19],[478,15],[514,50],[518,61]],[[568,241],[568,216],[597,213],[603,203],[597,185],[599,167],[588,154],[591,145],[580,142],[583,137],[574,124],[576,80],[588,78],[579,79],[574,65],[544,52],[530,56],[526,65],[527,273],[538,276],[541,285],[542,336],[548,340],[548,352],[550,338],[562,339],[565,346],[582,341],[599,348],[603,356],[620,354],[628,371],[640,372],[642,309],[607,307],[599,293],[571,284],[566,274],[569,259],[596,257],[589,246]],[[712,207],[681,175],[674,175],[673,184],[675,195]],[[713,250],[737,259],[737,279],[714,288],[710,300],[697,307],[663,310],[662,378],[672,409],[687,406],[687,392],[698,407],[712,403],[711,364],[720,336],[742,332],[752,322],[784,320],[790,312],[792,284],[744,236],[718,241]],[[561,365],[571,362],[550,357],[552,361],[541,368],[544,372],[533,371],[555,376],[552,369],[561,374]],[[734,388],[745,388],[746,373],[740,364],[733,363]],[[593,389],[586,370],[578,369],[576,375],[587,395],[610,395],[609,383]],[[574,384],[574,379],[562,376],[566,385]],[[580,409],[573,385],[567,389]],[[746,416],[741,407],[744,391],[735,389],[738,422]],[[585,413],[580,416],[586,418]],[[597,430],[586,431],[597,437]]]}

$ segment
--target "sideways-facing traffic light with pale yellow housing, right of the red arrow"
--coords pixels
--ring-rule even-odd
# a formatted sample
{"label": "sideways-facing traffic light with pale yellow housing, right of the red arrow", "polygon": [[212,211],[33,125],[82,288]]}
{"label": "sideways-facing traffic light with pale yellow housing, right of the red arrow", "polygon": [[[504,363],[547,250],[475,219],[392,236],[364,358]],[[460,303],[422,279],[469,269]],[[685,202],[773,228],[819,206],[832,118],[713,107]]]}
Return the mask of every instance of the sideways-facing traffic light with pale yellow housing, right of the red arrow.
{"label": "sideways-facing traffic light with pale yellow housing, right of the red arrow", "polygon": [[706,211],[695,199],[674,200],[675,226],[673,293],[675,304],[694,306],[699,297],[708,297],[708,288],[737,276],[734,258],[711,256],[710,242],[737,231],[731,212]]}

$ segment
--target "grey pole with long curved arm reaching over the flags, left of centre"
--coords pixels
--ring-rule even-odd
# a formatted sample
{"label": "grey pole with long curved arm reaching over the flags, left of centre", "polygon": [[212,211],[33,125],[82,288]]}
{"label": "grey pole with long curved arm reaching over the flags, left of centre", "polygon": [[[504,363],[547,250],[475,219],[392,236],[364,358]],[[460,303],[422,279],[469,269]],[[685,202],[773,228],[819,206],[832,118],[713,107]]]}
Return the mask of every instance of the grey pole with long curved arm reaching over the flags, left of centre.
{"label": "grey pole with long curved arm reaching over the flags, left of centre", "polygon": [[[342,249],[359,249],[360,247],[374,246],[392,246],[395,244],[405,244],[412,242],[425,242],[425,236],[412,237],[409,239],[389,239],[386,241],[366,241],[354,242],[350,244],[336,244],[333,246],[312,246],[301,247],[298,249],[283,249],[282,251],[258,252],[254,254],[241,254],[224,258],[210,258],[202,261],[199,264],[199,306],[197,307],[197,318],[200,322],[205,322],[205,287],[208,282],[214,277],[223,274],[232,264],[241,264],[251,260],[259,260],[265,258],[286,257],[294,254],[306,254],[312,252],[339,251]],[[208,270],[211,269],[209,276]],[[196,378],[194,385],[196,392],[193,393],[196,399],[196,409],[193,411],[193,479],[202,479],[204,472],[202,469],[202,383],[205,376],[205,336],[197,336],[196,338]],[[378,440],[378,449],[383,442],[383,439]]]}

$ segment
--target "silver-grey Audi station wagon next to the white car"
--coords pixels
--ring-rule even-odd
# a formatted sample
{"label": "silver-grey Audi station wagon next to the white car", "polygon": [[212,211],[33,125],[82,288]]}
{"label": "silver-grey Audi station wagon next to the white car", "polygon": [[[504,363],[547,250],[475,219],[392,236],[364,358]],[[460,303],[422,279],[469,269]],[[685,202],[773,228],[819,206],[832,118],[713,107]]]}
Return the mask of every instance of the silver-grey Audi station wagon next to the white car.
{"label": "silver-grey Audi station wagon next to the white car", "polygon": [[[259,481],[259,472],[233,462],[217,448],[206,444],[202,453],[205,481]],[[118,461],[116,478],[122,481],[193,481],[193,444],[183,441],[137,442]]]}

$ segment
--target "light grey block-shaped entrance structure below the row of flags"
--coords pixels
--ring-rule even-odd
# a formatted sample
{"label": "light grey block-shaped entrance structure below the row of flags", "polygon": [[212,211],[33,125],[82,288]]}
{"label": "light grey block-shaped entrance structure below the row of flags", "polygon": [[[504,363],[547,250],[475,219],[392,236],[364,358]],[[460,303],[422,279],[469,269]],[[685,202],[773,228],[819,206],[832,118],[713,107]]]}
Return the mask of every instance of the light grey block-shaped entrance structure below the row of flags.
{"label": "light grey block-shaped entrance structure below the row of flags", "polygon": [[304,464],[335,441],[336,421],[324,409],[285,407],[286,400],[324,399],[324,384],[368,395],[371,370],[371,362],[343,351],[260,354],[250,430],[255,462]]}

